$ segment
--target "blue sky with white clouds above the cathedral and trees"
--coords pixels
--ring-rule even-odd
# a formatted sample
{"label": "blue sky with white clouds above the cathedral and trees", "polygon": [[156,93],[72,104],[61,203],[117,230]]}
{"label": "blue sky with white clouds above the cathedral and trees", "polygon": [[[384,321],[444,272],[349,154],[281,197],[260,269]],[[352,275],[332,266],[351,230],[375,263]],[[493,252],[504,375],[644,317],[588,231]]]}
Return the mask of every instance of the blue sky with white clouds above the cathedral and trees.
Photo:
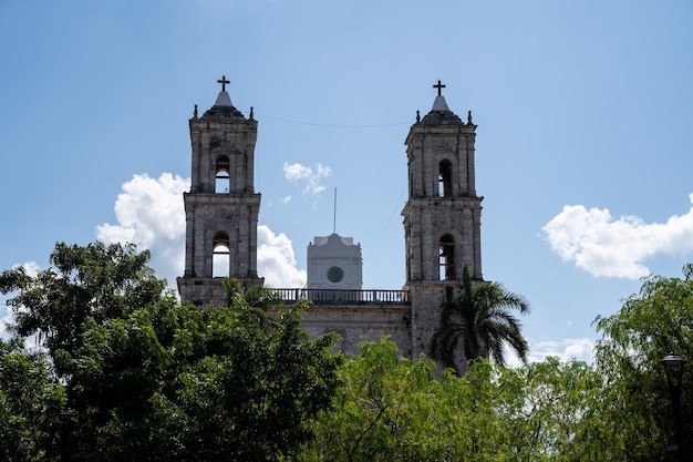
{"label": "blue sky with white clouds above the cathedral and trees", "polygon": [[131,239],[180,275],[187,121],[224,74],[259,122],[260,275],[304,280],[337,188],[364,287],[397,289],[403,143],[441,79],[478,125],[484,277],[531,302],[532,358],[588,359],[597,315],[693,260],[691,23],[690,0],[0,0],[0,268]]}

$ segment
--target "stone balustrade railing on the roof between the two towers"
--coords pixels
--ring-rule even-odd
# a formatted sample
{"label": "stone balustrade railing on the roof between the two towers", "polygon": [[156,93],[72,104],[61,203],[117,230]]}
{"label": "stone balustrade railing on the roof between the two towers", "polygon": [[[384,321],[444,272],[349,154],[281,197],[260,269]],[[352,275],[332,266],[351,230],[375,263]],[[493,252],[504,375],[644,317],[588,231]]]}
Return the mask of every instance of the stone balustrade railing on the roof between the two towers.
{"label": "stone balustrade railing on the roof between the two towers", "polygon": [[346,290],[346,289],[271,289],[285,304],[311,300],[316,304],[402,304],[408,305],[408,290]]}

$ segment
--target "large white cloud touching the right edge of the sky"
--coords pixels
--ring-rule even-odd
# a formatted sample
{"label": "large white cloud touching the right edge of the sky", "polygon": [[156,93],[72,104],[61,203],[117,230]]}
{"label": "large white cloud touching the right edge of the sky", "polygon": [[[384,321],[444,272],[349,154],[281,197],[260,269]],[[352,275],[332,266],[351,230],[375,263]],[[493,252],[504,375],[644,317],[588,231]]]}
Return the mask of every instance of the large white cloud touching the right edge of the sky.
{"label": "large white cloud touching the right edge of the sky", "polygon": [[606,208],[566,205],[542,230],[551,250],[592,276],[638,279],[650,274],[647,258],[693,250],[693,207],[666,223],[648,224],[632,215],[613,219]]}

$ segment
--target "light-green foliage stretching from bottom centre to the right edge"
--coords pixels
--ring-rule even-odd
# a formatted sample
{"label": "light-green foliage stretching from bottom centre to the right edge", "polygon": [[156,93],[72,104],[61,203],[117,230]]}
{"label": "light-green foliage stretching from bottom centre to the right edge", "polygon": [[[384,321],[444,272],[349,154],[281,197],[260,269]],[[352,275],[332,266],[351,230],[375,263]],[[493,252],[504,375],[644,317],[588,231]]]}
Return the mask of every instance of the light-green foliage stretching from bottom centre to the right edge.
{"label": "light-green foliage stretching from bottom centre to the right edge", "polygon": [[[594,366],[477,360],[462,378],[436,378],[433,363],[399,358],[387,341],[365,343],[341,370],[334,409],[321,413],[301,460],[666,460],[673,419],[660,360],[672,350],[693,358],[693,266],[683,278],[647,278],[619,312],[596,324],[603,338]],[[692,381],[687,370],[686,449]]]}

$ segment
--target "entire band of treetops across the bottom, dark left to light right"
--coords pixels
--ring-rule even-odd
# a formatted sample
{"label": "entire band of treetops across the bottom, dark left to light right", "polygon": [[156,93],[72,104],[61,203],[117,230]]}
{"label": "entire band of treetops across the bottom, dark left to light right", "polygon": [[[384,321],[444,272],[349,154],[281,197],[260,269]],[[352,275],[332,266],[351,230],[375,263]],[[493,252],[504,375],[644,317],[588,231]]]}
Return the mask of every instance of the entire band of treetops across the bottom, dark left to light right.
{"label": "entire band of treetops across the bottom, dark left to light right", "polygon": [[[592,365],[480,358],[458,377],[403,358],[385,338],[353,357],[332,352],[335,336],[300,328],[308,304],[277,306],[271,290],[242,294],[227,280],[225,307],[182,305],[147,258],[132,246],[59,244],[55,268],[0,275],[18,316],[17,336],[0,340],[0,460],[668,460],[674,429],[660,360],[693,359],[692,265],[682,278],[643,279],[621,310],[598,317]],[[497,312],[488,308],[507,292],[468,284],[470,299],[451,297],[451,310]],[[18,333],[39,335],[39,348]],[[465,355],[493,345],[479,335]]]}

